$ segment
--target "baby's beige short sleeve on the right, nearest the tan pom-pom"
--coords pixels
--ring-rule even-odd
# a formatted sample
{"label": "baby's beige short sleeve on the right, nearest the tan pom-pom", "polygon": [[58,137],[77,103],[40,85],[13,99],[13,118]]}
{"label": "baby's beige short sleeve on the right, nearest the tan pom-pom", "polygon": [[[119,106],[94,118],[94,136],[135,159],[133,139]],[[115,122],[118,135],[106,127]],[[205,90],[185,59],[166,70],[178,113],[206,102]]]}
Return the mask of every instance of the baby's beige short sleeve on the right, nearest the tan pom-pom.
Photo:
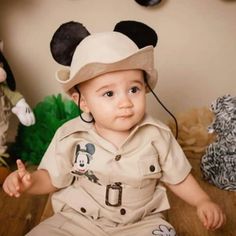
{"label": "baby's beige short sleeve on the right, nearest the tan pom-pom", "polygon": [[182,182],[191,171],[191,165],[170,131],[161,131],[155,141],[162,169],[161,181],[169,184]]}

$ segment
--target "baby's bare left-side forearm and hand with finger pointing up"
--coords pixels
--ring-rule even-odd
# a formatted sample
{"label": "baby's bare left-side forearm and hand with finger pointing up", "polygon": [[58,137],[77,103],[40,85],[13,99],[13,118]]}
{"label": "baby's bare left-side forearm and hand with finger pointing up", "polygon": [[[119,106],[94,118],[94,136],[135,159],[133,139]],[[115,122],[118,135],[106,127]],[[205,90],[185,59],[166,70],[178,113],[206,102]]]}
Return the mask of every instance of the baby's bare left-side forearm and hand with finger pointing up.
{"label": "baby's bare left-side forearm and hand with finger pointing up", "polygon": [[51,183],[46,170],[29,173],[21,160],[17,160],[17,170],[12,172],[3,183],[4,191],[11,197],[20,197],[22,193],[47,194],[57,190]]}

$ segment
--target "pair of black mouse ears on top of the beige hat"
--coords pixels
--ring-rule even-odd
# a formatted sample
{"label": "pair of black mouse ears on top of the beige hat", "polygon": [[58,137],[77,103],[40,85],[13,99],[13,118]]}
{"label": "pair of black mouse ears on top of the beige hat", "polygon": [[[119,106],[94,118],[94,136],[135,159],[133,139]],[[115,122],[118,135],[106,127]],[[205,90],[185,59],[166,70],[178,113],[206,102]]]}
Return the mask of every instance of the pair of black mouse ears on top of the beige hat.
{"label": "pair of black mouse ears on top of the beige hat", "polygon": [[[156,32],[137,21],[121,21],[116,24],[114,31],[128,36],[139,48],[157,44]],[[62,24],[54,33],[50,48],[55,61],[59,64],[70,66],[76,47],[90,35],[89,31],[78,22],[70,21]]]}

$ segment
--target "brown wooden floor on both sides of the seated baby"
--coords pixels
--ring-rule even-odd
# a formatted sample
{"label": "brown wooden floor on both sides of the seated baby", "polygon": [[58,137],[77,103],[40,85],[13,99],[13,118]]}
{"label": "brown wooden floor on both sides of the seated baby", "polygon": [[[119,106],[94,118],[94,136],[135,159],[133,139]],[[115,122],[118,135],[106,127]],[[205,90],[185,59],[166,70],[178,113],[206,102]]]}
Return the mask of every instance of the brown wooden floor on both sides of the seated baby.
{"label": "brown wooden floor on both sides of the seated baby", "polygon": [[[193,165],[193,174],[201,186],[225,210],[227,223],[214,232],[205,230],[195,209],[171,193],[168,193],[172,207],[167,213],[168,221],[174,225],[179,236],[236,236],[236,192],[220,190],[202,181],[199,158],[191,158],[190,162]],[[48,196],[25,195],[20,199],[13,199],[0,189],[0,236],[23,236],[51,213]]]}

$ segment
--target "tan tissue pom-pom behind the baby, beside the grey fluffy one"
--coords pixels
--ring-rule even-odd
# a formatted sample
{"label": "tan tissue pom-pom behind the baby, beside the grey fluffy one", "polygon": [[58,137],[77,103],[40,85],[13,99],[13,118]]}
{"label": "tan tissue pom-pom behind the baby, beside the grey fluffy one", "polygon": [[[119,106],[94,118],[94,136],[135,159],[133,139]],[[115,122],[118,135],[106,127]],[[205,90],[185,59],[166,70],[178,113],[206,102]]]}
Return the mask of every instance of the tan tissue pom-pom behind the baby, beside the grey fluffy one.
{"label": "tan tissue pom-pom behind the baby, beside the grey fluffy one", "polygon": [[[188,158],[199,158],[205,153],[206,148],[215,139],[214,134],[207,131],[213,121],[213,113],[207,107],[193,108],[189,111],[179,113],[178,121],[178,143]],[[175,124],[169,122],[169,126],[175,133]]]}

